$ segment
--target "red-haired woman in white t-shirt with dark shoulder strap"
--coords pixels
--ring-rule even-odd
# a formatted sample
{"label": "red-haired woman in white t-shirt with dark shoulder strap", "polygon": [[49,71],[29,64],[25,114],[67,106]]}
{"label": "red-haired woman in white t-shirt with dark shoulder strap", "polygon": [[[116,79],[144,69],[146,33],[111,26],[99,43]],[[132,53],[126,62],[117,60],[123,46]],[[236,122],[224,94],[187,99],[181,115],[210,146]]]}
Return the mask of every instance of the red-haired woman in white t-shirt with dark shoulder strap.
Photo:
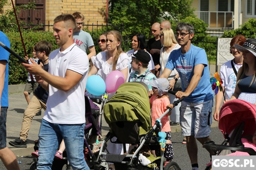
{"label": "red-haired woman in white t-shirt with dark shoulder strap", "polygon": [[[232,94],[234,93],[234,90],[236,88],[236,82],[237,82],[237,72],[238,69],[243,64],[243,53],[238,51],[234,45],[243,45],[246,41],[245,36],[243,35],[236,35],[232,38],[230,41],[230,53],[234,56],[234,59],[227,61],[221,66],[220,74],[223,81],[223,92],[225,93],[225,99],[230,99]],[[215,102],[215,111],[213,114],[213,118],[216,121],[219,121],[219,108],[221,106],[221,102],[223,99],[223,92],[220,90],[216,94],[216,102]]]}

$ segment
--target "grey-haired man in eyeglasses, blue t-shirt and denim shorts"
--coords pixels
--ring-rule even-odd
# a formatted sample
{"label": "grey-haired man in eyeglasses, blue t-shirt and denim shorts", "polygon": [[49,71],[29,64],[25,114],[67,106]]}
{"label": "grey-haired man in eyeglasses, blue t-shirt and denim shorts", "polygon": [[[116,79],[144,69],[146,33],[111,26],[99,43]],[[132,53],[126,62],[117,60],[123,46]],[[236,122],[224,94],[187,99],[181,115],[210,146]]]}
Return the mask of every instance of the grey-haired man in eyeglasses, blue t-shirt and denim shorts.
{"label": "grey-haired man in eyeglasses, blue t-shirt and denim shorts", "polygon": [[194,27],[180,22],[176,27],[176,37],[181,48],[171,52],[160,77],[168,78],[174,68],[181,77],[182,91],[175,94],[176,98],[185,97],[181,102],[181,130],[186,136],[192,169],[198,170],[196,139],[201,144],[211,140],[214,95],[205,50],[191,44]]}

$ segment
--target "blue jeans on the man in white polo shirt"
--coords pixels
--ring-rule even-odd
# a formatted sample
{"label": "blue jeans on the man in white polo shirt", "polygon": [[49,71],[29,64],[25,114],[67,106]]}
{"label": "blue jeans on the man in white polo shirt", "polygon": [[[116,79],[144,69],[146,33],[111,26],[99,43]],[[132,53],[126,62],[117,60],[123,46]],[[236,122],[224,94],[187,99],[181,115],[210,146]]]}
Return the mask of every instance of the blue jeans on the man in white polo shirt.
{"label": "blue jeans on the man in white polo shirt", "polygon": [[84,127],[85,124],[55,124],[42,119],[37,169],[51,170],[54,156],[63,138],[71,167],[74,170],[89,170],[83,153]]}

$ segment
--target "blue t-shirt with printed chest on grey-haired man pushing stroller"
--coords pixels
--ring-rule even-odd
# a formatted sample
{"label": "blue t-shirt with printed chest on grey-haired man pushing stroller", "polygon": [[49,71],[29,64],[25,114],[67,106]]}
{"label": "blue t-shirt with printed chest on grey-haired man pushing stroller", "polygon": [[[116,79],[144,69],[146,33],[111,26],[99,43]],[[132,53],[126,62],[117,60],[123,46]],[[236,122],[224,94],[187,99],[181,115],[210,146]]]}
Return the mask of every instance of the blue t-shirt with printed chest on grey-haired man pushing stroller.
{"label": "blue t-shirt with printed chest on grey-haired man pushing stroller", "polygon": [[200,103],[213,99],[213,91],[210,83],[210,71],[205,50],[191,44],[190,49],[181,53],[181,48],[173,50],[168,58],[166,68],[176,68],[181,78],[182,91],[184,92],[194,75],[194,68],[198,64],[204,64],[204,69],[197,87],[191,94],[185,97],[185,102]]}

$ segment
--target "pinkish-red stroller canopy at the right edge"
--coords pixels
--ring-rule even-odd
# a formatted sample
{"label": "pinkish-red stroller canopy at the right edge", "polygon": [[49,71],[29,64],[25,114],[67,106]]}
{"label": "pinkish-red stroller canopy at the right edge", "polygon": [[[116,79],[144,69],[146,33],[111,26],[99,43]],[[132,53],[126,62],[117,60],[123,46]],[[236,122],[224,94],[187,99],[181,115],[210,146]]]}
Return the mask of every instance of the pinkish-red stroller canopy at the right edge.
{"label": "pinkish-red stroller canopy at the right edge", "polygon": [[230,134],[234,128],[244,122],[243,136],[253,135],[256,130],[256,105],[240,99],[225,103],[219,113],[219,129]]}

